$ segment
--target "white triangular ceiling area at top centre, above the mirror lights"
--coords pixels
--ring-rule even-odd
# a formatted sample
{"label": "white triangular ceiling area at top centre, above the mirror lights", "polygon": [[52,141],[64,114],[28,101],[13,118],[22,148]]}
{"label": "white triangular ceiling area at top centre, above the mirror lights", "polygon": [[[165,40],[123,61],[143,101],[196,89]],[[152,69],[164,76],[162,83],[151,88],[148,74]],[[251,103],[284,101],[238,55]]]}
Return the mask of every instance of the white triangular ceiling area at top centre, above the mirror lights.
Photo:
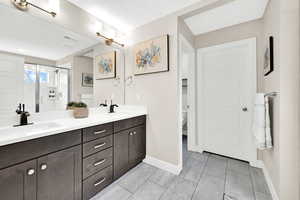
{"label": "white triangular ceiling area at top centre, above the mirror lights", "polygon": [[68,0],[122,32],[202,0]]}

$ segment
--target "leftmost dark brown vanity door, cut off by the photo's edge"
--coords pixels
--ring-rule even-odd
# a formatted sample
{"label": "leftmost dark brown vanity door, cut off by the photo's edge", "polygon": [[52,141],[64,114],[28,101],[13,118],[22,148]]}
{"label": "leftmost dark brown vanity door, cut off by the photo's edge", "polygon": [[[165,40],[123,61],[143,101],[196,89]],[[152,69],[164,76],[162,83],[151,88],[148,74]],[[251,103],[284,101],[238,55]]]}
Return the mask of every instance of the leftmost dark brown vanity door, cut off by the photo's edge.
{"label": "leftmost dark brown vanity door, cut off by the photo's edge", "polygon": [[0,171],[0,199],[36,200],[36,160]]}

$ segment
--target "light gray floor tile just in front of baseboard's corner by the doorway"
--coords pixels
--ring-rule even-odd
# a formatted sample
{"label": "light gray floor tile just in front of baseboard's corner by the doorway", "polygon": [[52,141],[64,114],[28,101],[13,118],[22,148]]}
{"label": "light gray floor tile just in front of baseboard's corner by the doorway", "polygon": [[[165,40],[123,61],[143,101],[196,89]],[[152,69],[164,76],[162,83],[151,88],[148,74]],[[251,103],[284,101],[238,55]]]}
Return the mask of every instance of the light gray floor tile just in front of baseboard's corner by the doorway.
{"label": "light gray floor tile just in front of baseboard's corner by the doorway", "polygon": [[149,180],[160,186],[168,188],[173,183],[175,178],[176,175],[161,169],[157,169],[156,172],[149,178]]}

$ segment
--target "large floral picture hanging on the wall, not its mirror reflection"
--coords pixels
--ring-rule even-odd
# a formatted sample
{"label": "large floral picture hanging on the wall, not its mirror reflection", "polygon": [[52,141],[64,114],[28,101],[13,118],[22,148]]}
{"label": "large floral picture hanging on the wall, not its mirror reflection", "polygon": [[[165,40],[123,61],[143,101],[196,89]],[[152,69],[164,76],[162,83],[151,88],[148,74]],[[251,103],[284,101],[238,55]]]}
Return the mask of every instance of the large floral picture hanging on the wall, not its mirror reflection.
{"label": "large floral picture hanging on the wall, not its mirror reflection", "polygon": [[134,74],[169,71],[169,36],[164,35],[133,47]]}

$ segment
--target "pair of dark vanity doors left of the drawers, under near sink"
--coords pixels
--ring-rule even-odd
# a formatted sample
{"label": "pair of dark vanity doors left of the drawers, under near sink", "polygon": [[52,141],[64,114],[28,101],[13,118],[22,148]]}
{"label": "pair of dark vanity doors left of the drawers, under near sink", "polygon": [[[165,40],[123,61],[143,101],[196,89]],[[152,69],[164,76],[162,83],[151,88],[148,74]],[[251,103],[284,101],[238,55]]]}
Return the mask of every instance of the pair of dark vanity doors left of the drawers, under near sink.
{"label": "pair of dark vanity doors left of the drawers, under near sink", "polygon": [[0,171],[0,199],[80,200],[80,146]]}

